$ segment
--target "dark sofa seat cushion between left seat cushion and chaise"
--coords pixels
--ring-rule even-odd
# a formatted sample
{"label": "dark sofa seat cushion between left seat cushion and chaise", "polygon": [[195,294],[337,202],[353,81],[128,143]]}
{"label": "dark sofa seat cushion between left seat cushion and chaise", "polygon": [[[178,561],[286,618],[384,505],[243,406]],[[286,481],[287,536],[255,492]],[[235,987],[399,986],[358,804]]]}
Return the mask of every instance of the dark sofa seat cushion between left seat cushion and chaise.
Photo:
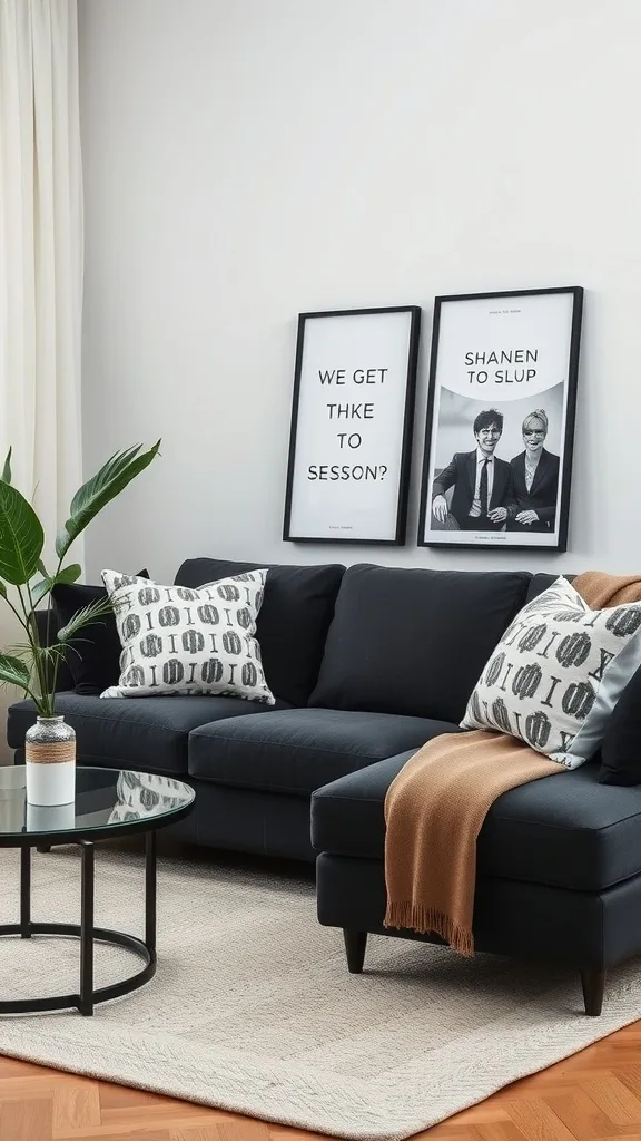
{"label": "dark sofa seat cushion between left seat cushion and chaise", "polygon": [[309,795],[346,772],[457,727],[443,721],[343,710],[287,710],[189,736],[189,775],[200,780]]}

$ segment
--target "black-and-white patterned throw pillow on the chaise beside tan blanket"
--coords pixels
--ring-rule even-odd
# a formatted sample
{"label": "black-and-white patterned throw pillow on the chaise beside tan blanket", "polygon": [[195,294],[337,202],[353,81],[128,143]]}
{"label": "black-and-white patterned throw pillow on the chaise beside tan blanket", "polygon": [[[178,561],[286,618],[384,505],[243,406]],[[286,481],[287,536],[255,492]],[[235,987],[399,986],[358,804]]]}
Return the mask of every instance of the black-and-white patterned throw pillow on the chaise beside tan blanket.
{"label": "black-and-white patterned throw pillow on the chaise beside tan blanket", "polygon": [[641,665],[641,602],[591,610],[560,577],[517,614],[461,722],[520,737],[575,769],[597,752]]}

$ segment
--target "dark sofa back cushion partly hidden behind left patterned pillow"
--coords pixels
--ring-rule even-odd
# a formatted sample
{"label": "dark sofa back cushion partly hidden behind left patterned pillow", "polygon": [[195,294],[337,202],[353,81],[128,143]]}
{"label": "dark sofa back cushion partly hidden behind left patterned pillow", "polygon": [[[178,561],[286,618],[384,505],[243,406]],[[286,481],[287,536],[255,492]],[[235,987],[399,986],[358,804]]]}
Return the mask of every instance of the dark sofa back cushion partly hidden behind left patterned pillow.
{"label": "dark sofa back cushion partly hidden behind left patterned pillow", "polygon": [[318,678],[343,566],[187,559],[176,575],[176,585],[202,586],[260,567],[269,568],[255,631],[267,685],[291,705],[307,705]]}

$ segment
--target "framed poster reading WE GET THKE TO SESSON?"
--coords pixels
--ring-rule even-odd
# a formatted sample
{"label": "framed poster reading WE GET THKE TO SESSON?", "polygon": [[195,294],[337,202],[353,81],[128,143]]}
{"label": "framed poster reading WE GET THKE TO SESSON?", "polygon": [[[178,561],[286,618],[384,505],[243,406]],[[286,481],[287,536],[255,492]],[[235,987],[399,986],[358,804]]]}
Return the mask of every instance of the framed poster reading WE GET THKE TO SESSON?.
{"label": "framed poster reading WE GET THKE TO SESSON?", "polygon": [[404,543],[421,309],[299,316],[283,539]]}

